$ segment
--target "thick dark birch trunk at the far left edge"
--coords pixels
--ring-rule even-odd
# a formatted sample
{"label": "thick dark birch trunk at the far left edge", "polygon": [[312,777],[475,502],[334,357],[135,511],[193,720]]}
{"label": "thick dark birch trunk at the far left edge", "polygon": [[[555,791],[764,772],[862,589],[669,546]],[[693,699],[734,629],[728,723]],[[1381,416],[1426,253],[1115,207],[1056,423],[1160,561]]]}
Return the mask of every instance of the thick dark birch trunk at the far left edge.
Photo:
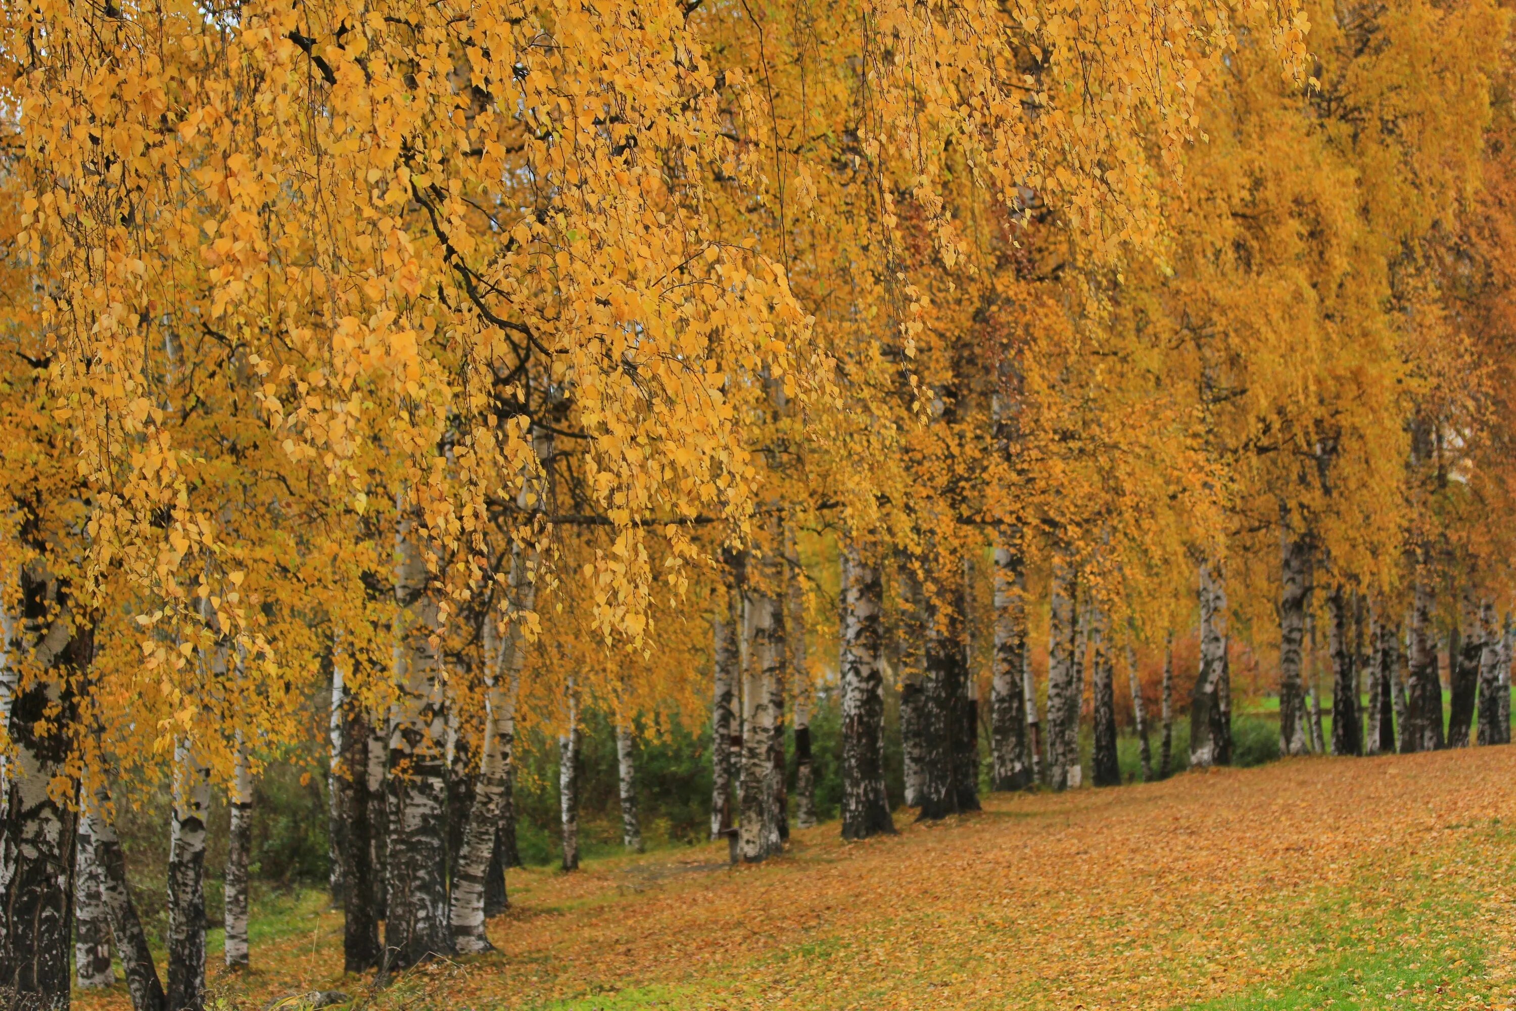
{"label": "thick dark birch trunk at the far left edge", "polygon": [[33,676],[12,696],[8,720],[14,762],[0,820],[0,990],[17,1008],[67,1008],[79,831],[73,806],[59,803],[53,787],[71,778],[74,693],[94,656],[94,628],[39,561],[21,570],[21,608]]}

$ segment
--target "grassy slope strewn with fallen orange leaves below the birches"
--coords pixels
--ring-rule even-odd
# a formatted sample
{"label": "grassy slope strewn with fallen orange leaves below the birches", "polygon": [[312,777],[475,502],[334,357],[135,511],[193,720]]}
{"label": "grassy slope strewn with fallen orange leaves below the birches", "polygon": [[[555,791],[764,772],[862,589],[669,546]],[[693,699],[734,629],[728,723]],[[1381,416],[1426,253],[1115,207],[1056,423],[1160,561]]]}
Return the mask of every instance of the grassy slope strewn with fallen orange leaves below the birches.
{"label": "grassy slope strewn with fallen orange leaves below the birches", "polygon": [[[1070,794],[778,859],[725,844],[511,872],[500,952],[384,991],[314,894],[255,925],[221,1006],[1513,1008],[1516,747],[1292,759]],[[212,958],[212,962],[218,961]],[[127,1008],[117,985],[77,996]]]}

